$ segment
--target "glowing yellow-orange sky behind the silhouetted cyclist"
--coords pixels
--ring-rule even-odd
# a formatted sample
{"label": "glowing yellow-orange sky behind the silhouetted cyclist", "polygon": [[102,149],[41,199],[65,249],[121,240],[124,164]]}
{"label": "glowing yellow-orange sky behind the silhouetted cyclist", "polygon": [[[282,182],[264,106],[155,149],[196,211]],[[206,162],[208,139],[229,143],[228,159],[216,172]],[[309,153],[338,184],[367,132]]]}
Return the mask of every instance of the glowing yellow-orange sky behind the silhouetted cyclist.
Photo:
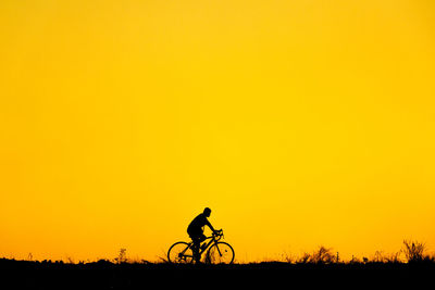
{"label": "glowing yellow-orange sky behind the silhouetted cyclist", "polygon": [[435,2],[0,2],[0,256],[435,250]]}

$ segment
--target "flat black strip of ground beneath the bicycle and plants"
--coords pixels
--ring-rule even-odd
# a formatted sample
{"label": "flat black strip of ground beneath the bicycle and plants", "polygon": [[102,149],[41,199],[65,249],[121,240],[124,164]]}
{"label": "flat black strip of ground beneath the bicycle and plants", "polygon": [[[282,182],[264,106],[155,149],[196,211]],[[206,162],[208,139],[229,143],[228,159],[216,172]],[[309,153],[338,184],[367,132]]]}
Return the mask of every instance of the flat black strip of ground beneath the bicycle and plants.
{"label": "flat black strip of ground beneath the bicycle and plants", "polygon": [[87,264],[0,259],[1,289],[433,289],[435,263]]}

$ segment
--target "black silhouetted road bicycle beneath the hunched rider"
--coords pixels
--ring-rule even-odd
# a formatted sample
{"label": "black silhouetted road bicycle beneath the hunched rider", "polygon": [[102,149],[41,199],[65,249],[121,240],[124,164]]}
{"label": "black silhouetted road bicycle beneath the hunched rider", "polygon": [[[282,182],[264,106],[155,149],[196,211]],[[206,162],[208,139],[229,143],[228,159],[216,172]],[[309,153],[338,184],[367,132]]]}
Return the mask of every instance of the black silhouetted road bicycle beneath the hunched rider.
{"label": "black silhouetted road bicycle beneath the hunched rider", "polygon": [[[234,249],[229,243],[220,241],[223,239],[223,230],[216,230],[212,236],[207,237],[199,248],[199,256],[207,251],[207,264],[232,264],[234,262]],[[207,242],[207,240],[210,240]],[[167,261],[173,264],[192,264],[194,242],[179,241],[171,245],[167,251]]]}

